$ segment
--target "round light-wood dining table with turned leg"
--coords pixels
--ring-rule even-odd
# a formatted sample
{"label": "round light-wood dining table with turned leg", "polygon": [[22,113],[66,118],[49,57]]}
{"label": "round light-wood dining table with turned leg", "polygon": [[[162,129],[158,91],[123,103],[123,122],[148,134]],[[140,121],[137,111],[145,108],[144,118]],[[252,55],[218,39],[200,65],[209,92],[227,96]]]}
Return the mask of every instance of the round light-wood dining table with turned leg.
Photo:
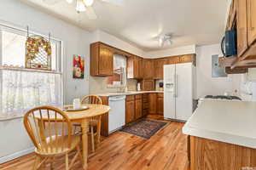
{"label": "round light-wood dining table with turned leg", "polygon": [[[94,105],[84,104],[89,106],[89,109],[84,111],[64,111],[67,113],[71,122],[80,122],[82,128],[82,144],[83,144],[83,157],[84,157],[84,169],[87,168],[88,159],[88,132],[89,132],[89,118],[93,116],[102,116],[110,111],[108,105]],[[68,105],[65,105],[67,107]]]}

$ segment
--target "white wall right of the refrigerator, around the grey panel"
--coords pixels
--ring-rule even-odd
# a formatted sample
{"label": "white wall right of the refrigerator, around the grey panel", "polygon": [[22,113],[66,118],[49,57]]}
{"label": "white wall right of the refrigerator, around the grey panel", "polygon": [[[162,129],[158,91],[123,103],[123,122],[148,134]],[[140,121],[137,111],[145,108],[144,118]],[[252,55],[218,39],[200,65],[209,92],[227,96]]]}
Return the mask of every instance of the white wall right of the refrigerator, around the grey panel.
{"label": "white wall right of the refrigerator, around the grey panel", "polygon": [[196,48],[197,98],[207,94],[221,95],[225,92],[235,93],[240,90],[241,75],[212,77],[212,55],[222,54],[220,45],[213,44]]}

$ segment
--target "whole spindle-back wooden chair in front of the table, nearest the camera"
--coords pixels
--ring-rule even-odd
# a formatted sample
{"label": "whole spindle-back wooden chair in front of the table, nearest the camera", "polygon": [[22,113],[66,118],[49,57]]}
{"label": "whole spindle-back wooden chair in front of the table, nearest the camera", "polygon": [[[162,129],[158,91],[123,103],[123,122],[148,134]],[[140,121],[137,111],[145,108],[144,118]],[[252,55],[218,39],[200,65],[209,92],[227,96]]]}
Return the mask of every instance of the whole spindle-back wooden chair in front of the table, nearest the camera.
{"label": "whole spindle-back wooden chair in front of the table, nearest the camera", "polygon": [[[53,162],[60,156],[65,156],[66,170],[73,167],[78,156],[83,161],[80,136],[72,135],[72,124],[65,112],[51,106],[37,107],[26,112],[24,125],[35,145],[34,170],[45,166],[46,161],[50,162],[50,168],[53,169]],[[69,164],[68,153],[73,150],[77,150],[77,153]]]}

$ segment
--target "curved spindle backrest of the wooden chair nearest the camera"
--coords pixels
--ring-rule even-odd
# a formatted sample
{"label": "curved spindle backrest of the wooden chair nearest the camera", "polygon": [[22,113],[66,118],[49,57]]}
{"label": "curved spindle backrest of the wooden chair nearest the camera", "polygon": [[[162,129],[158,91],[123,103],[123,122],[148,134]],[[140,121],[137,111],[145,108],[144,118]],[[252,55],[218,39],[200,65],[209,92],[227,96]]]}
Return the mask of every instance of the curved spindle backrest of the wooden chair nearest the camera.
{"label": "curved spindle backrest of the wooden chair nearest the camera", "polygon": [[27,111],[24,125],[38,152],[53,154],[71,147],[72,124],[67,114],[55,107]]}

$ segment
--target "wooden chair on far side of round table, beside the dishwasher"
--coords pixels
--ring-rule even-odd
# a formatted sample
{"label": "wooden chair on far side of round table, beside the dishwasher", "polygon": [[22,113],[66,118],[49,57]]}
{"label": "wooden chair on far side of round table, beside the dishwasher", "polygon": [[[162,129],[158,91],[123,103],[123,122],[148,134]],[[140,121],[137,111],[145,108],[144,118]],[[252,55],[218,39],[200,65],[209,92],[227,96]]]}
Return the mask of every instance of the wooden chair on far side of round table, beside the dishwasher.
{"label": "wooden chair on far side of round table, beside the dishwasher", "polygon": [[[102,105],[102,99],[96,95],[87,95],[81,100],[82,104],[97,104]],[[96,144],[101,142],[101,122],[102,116],[94,116],[91,117],[89,120],[90,125],[90,135],[91,135],[91,147],[92,152],[95,152],[95,137],[96,137]],[[76,123],[74,124],[75,127],[80,127],[81,125]],[[96,127],[96,133],[94,133],[94,127]]]}

